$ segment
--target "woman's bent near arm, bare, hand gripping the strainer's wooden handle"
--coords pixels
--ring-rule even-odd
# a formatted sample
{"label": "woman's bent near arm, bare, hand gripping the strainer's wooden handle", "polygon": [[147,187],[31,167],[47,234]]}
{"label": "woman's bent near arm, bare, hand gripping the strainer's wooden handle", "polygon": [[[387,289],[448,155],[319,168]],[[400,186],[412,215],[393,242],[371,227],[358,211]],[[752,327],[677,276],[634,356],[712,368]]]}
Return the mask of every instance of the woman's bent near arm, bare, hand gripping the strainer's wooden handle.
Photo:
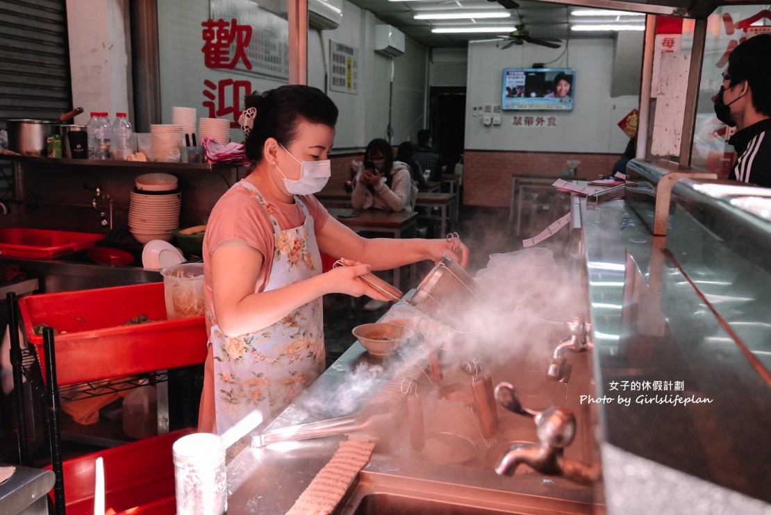
{"label": "woman's bent near arm, bare, hand gripping the strainer's wooden handle", "polygon": [[359,279],[359,275],[370,270],[366,264],[334,268],[284,288],[255,293],[254,285],[263,264],[260,251],[240,240],[224,241],[211,254],[214,313],[225,335],[259,331],[327,293],[386,300]]}

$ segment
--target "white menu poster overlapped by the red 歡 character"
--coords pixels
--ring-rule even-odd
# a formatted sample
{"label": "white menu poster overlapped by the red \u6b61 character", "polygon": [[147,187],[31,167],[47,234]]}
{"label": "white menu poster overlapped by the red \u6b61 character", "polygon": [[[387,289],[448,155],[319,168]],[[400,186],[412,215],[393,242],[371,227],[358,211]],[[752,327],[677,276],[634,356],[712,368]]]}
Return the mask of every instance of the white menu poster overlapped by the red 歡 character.
{"label": "white menu poster overlapped by the red \u6b61 character", "polygon": [[285,2],[211,0],[211,39],[204,54],[215,66],[207,67],[288,79],[289,23],[280,5]]}

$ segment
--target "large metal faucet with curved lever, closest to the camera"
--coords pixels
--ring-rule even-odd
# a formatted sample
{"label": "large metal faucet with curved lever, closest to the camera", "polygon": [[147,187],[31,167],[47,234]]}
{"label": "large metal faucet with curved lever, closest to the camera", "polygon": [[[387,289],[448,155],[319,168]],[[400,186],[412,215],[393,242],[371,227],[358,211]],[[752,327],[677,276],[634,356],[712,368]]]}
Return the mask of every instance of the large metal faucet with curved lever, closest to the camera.
{"label": "large metal faucet with curved lever, closest to the camera", "polygon": [[517,466],[525,463],[539,473],[561,476],[583,485],[591,485],[600,478],[601,468],[598,463],[587,465],[564,456],[564,448],[573,442],[576,433],[576,419],[569,409],[557,406],[550,406],[540,412],[527,409],[517,399],[513,386],[507,382],[496,386],[495,398],[504,408],[534,419],[539,440],[538,443],[510,446],[495,466],[498,475],[511,476]]}

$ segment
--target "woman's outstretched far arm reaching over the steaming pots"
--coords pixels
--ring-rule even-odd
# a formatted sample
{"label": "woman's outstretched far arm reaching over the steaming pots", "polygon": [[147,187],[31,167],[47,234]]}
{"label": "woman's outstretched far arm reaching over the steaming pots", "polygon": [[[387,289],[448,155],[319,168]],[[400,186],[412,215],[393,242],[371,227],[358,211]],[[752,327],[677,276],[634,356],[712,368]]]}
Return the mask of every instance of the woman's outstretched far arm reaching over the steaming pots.
{"label": "woman's outstretched far arm reaching over the steaming pots", "polygon": [[370,264],[372,270],[390,270],[418,261],[439,261],[445,253],[463,267],[466,267],[469,261],[469,249],[463,242],[453,253],[452,243],[446,240],[364,238],[345,227],[334,217],[329,217],[321,230],[316,231],[316,241],[325,254]]}

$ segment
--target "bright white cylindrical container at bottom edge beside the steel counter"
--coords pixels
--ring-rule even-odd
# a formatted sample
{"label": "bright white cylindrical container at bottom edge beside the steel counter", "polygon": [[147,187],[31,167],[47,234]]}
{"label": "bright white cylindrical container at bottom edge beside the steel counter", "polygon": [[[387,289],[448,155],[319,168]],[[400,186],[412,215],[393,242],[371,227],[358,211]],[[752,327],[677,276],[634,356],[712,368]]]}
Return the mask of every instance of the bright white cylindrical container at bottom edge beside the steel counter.
{"label": "bright white cylindrical container at bottom edge beside the steel counter", "polygon": [[227,512],[225,444],[221,436],[195,433],[172,447],[177,515]]}

